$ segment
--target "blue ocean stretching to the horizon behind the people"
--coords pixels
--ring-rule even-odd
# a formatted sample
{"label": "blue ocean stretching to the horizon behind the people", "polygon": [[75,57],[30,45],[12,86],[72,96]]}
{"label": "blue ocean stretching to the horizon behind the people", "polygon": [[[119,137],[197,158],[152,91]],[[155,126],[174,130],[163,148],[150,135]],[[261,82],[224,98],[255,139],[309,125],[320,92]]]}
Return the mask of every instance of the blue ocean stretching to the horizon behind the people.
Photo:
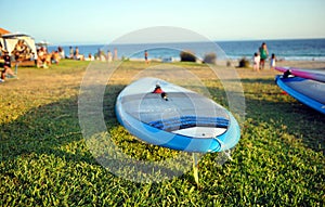
{"label": "blue ocean stretching to the horizon behind the people", "polygon": [[[88,55],[96,54],[102,50],[107,54],[108,50],[114,53],[117,49],[118,57],[144,59],[144,50],[148,51],[148,59],[180,60],[180,52],[192,51],[197,57],[213,52],[219,60],[251,59],[262,42],[268,44],[270,56],[272,53],[278,60],[294,61],[325,61],[325,39],[295,39],[295,40],[245,40],[245,41],[216,41],[208,42],[179,42],[179,43],[139,43],[139,44],[80,44],[72,46],[79,48],[79,53]],[[57,50],[58,46],[49,46],[48,50]],[[61,46],[68,55],[70,46]]]}

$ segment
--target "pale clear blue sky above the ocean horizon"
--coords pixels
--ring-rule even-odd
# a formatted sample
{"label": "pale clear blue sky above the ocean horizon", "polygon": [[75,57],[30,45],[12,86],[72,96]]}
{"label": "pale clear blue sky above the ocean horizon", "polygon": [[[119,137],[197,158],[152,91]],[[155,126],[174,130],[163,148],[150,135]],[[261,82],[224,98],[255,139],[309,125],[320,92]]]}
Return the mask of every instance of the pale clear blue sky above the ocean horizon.
{"label": "pale clear blue sky above the ocean horizon", "polygon": [[109,43],[159,26],[216,41],[325,38],[325,0],[0,0],[0,8],[1,28],[53,44]]}

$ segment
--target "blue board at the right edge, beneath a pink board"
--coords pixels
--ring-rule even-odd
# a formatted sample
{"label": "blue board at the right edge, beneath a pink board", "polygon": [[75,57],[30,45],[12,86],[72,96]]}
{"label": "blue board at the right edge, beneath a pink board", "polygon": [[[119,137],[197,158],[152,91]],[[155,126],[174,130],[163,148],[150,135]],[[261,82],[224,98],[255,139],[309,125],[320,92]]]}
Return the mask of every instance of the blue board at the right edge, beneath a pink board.
{"label": "blue board at the right edge, beneath a pink board", "polygon": [[325,114],[325,82],[295,76],[276,76],[280,88],[301,103]]}

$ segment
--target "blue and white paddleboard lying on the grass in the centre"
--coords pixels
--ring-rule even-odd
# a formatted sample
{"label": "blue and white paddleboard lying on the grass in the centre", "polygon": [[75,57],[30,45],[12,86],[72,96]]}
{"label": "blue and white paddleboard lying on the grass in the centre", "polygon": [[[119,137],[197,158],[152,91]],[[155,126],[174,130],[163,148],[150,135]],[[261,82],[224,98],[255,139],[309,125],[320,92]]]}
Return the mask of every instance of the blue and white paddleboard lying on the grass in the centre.
{"label": "blue and white paddleboard lying on the grass in the centre", "polygon": [[139,139],[178,151],[221,152],[240,138],[238,122],[224,107],[157,78],[126,87],[117,98],[116,116]]}

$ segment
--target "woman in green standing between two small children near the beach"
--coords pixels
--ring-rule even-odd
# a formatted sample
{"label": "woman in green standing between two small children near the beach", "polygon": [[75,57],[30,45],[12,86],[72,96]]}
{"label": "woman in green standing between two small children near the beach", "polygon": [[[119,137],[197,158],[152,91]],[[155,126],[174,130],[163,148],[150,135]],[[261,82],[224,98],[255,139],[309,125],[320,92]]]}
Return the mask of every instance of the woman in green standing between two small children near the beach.
{"label": "woman in green standing between two small children near the beach", "polygon": [[[268,46],[265,42],[262,43],[262,46],[259,48],[258,52],[256,52],[253,54],[253,65],[252,68],[256,72],[260,72],[260,69],[264,69],[265,68],[265,62],[269,57],[269,50],[268,50]],[[271,59],[270,59],[270,68],[274,68],[275,67],[275,54],[272,53]]]}

